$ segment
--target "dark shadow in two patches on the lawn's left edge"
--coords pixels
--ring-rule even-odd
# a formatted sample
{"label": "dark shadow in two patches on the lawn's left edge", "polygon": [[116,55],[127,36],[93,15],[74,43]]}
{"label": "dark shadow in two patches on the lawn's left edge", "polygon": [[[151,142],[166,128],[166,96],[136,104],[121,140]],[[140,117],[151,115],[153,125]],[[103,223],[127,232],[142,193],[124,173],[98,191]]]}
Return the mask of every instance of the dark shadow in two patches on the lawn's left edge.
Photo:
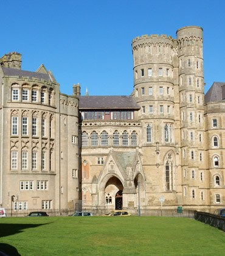
{"label": "dark shadow in two patches on the lawn's left edge", "polygon": [[[49,223],[46,223],[49,224]],[[29,229],[46,224],[0,224],[0,238],[8,235],[15,235],[16,233],[23,232],[23,229]],[[1,254],[4,252],[4,254]],[[10,244],[0,243],[0,256],[20,256],[17,249]]]}

